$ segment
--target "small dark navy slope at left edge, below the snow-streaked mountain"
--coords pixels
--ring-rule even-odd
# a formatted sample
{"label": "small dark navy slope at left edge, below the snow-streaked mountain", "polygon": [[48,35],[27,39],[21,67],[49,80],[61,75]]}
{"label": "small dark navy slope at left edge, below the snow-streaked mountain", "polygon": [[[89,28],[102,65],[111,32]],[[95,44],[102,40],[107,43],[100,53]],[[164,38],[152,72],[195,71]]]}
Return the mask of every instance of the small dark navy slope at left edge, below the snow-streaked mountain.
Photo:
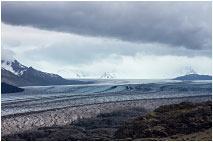
{"label": "small dark navy slope at left edge, below the snow-streaked mountain", "polygon": [[9,84],[6,84],[4,82],[1,83],[1,93],[17,93],[17,92],[22,92],[24,89],[18,88]]}

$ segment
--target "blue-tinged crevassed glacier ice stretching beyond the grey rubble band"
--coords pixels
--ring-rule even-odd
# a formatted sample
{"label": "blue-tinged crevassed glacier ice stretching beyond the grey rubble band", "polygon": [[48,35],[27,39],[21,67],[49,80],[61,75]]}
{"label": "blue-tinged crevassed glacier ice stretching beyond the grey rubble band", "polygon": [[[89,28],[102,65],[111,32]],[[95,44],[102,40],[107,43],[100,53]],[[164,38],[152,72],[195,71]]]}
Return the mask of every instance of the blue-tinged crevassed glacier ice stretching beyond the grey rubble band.
{"label": "blue-tinged crevassed glacier ice stretching beyond the grey rubble band", "polygon": [[212,95],[211,81],[97,80],[88,85],[23,88],[24,92],[2,94],[2,116],[103,102]]}

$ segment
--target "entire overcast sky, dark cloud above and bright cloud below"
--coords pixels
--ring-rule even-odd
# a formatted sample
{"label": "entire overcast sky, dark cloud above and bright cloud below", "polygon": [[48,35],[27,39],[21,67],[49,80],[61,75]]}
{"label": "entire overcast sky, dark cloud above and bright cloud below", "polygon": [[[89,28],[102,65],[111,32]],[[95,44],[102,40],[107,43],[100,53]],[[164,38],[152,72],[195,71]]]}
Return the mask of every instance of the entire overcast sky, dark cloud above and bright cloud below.
{"label": "entire overcast sky, dark cloud above and bright cloud below", "polygon": [[2,58],[57,73],[211,74],[211,2],[2,2]]}

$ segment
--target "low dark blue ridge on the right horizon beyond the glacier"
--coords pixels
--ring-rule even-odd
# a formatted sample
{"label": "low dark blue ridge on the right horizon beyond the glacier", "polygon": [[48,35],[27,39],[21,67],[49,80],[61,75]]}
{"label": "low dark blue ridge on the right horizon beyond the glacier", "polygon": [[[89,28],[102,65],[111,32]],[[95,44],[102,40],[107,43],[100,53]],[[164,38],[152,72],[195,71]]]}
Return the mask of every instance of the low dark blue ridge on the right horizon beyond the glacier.
{"label": "low dark blue ridge on the right horizon beyond the glacier", "polygon": [[189,74],[189,75],[184,75],[184,76],[174,78],[173,80],[212,80],[212,76]]}

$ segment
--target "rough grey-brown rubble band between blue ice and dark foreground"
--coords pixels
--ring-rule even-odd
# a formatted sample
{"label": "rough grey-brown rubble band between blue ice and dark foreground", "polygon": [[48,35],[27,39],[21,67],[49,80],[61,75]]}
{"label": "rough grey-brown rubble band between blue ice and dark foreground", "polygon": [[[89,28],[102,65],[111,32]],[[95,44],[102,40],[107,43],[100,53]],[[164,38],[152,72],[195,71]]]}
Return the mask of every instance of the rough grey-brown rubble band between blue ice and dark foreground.
{"label": "rough grey-brown rubble band between blue ice and dark foreground", "polygon": [[41,127],[63,126],[79,119],[96,117],[97,115],[130,108],[143,108],[147,112],[166,104],[183,101],[203,102],[212,100],[211,96],[196,96],[169,99],[132,100],[110,102],[84,106],[67,107],[46,111],[29,112],[1,117],[1,135],[15,134],[26,130],[36,130]]}

